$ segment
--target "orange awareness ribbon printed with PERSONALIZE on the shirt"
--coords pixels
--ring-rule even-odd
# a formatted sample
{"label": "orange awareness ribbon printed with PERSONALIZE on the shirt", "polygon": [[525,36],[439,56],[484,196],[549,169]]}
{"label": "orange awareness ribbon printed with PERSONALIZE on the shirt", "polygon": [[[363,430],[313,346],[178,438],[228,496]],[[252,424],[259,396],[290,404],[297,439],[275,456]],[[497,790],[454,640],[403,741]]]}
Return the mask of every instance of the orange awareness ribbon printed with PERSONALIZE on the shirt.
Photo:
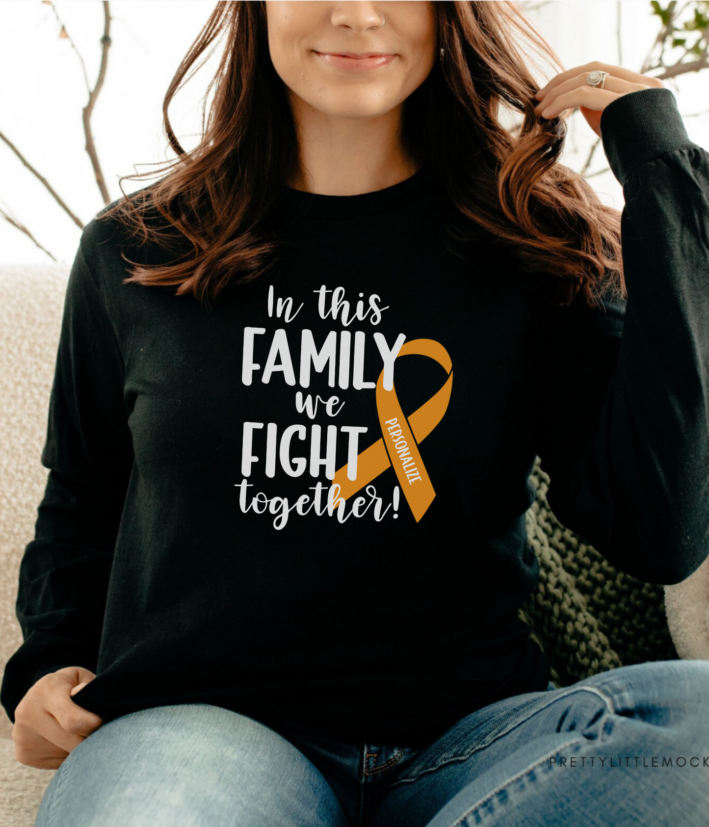
{"label": "orange awareness ribbon printed with PERSONALIZE on the shirt", "polygon": [[383,436],[357,455],[357,480],[347,479],[345,463],[335,473],[332,485],[338,485],[338,488],[334,489],[335,500],[338,496],[348,500],[389,466],[394,466],[401,490],[418,523],[436,495],[418,446],[438,425],[448,408],[453,385],[453,363],[448,351],[434,339],[413,339],[411,342],[405,342],[396,358],[410,354],[435,359],[448,374],[448,379],[428,402],[424,402],[419,409],[410,414],[407,423],[395,387],[392,385],[391,390],[384,390],[382,369],[379,379],[376,380],[376,413]]}

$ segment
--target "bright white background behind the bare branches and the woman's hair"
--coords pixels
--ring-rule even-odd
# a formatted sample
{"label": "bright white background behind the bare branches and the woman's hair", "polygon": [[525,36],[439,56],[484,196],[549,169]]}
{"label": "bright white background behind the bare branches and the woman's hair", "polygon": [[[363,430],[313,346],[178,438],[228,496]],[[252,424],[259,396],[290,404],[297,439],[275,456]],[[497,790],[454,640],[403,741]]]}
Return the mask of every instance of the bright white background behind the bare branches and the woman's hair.
{"label": "bright white background behind the bare branches and the woman's hair", "polygon": [[[113,45],[106,84],[93,117],[96,144],[113,198],[120,194],[118,176],[137,166],[164,159],[161,104],[189,44],[213,8],[204,0],[113,0]],[[589,60],[619,64],[616,45],[616,0],[553,2],[532,19],[567,68]],[[649,2],[623,0],[625,22],[622,63],[639,69],[657,31]],[[103,10],[98,0],[59,0],[56,8],[70,31],[92,80],[98,71]],[[81,110],[86,92],[79,61],[68,40],[59,39],[49,4],[39,0],[0,3],[0,130],[46,174],[84,222],[103,202],[84,152]],[[200,93],[207,82],[195,79],[180,93],[173,125],[191,146],[199,131]],[[709,108],[709,70],[668,84],[678,96],[680,112]],[[190,88],[191,87],[191,88]],[[686,117],[693,141],[709,147],[709,116]],[[578,169],[596,140],[579,112],[570,122],[564,163]],[[602,148],[593,169],[606,165]],[[79,229],[0,143],[0,206],[26,223],[41,243],[61,261],[74,258]],[[591,179],[606,203],[620,208],[622,194],[612,174]],[[127,192],[140,184],[128,181]],[[46,255],[0,219],[0,261],[47,261]]]}

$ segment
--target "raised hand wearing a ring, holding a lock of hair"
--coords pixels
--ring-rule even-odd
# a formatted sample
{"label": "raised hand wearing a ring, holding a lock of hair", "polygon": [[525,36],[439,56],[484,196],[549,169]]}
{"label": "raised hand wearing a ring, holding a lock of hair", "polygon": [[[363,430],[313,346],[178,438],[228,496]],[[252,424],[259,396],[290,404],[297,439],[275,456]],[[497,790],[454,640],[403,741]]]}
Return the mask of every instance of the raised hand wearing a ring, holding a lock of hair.
{"label": "raised hand wearing a ring, holding a lock of hair", "polygon": [[[586,82],[588,73],[594,70],[608,73],[602,89],[589,86]],[[558,117],[567,109],[578,107],[588,125],[601,137],[601,114],[611,101],[639,89],[663,86],[663,82],[657,78],[649,78],[647,75],[631,72],[630,69],[623,69],[622,66],[593,60],[592,63],[560,72],[546,86],[540,88],[534,95],[540,102],[534,108],[534,112],[541,117],[550,118]]]}

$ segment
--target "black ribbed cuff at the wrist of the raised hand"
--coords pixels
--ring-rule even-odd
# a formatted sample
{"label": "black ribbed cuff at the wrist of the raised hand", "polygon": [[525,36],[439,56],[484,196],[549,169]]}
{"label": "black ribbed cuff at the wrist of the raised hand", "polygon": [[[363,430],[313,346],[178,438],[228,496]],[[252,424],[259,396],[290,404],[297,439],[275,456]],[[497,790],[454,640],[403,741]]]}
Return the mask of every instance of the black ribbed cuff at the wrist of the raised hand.
{"label": "black ribbed cuff at the wrist of the raised hand", "polygon": [[650,86],[621,95],[601,112],[601,141],[608,164],[625,187],[640,165],[690,141],[671,89]]}

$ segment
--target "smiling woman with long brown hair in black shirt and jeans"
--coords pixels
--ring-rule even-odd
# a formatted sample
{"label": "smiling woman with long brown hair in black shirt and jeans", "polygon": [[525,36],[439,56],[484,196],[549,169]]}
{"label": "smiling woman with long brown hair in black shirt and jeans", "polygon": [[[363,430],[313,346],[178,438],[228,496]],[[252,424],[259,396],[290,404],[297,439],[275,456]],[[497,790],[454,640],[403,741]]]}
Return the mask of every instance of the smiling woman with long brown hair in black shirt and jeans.
{"label": "smiling woman with long brown hair in black shirt and jeans", "polygon": [[[269,0],[218,3],[165,111],[222,35],[199,145],[165,117],[177,160],[69,279],[2,698],[60,767],[36,824],[703,824],[709,664],[557,688],[518,617],[536,454],[630,574],[707,556],[709,155],[673,94],[537,92],[513,4]],[[622,222],[558,163],[576,107]]]}

